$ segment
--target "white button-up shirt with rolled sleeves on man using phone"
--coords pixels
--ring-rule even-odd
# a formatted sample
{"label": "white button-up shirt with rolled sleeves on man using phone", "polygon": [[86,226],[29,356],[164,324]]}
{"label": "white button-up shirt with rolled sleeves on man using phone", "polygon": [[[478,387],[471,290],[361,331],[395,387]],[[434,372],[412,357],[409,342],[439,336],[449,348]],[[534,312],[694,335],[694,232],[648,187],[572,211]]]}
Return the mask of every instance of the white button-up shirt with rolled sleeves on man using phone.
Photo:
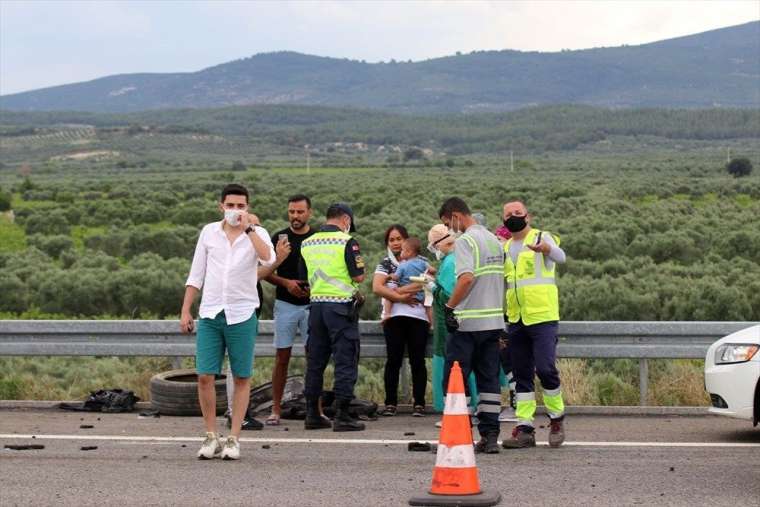
{"label": "white button-up shirt with rolled sleeves on man using phone", "polygon": [[213,319],[224,310],[227,324],[238,324],[250,319],[261,304],[256,291],[257,269],[259,264],[271,266],[275,253],[263,227],[256,227],[255,232],[269,247],[268,261],[259,258],[246,234],[230,244],[222,224],[214,222],[201,231],[185,285],[203,289],[201,318]]}

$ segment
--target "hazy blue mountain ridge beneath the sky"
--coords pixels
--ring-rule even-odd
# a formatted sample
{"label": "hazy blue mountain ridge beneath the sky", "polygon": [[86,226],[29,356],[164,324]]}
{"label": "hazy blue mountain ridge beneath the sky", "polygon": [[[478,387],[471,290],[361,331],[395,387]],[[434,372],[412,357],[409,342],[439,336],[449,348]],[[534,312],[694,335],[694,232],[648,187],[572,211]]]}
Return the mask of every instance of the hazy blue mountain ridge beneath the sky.
{"label": "hazy blue mountain ridge beneath the sky", "polygon": [[117,74],[0,96],[0,109],[93,112],[297,104],[450,113],[556,103],[760,107],[760,21],[636,46],[416,62],[277,51],[195,72]]}

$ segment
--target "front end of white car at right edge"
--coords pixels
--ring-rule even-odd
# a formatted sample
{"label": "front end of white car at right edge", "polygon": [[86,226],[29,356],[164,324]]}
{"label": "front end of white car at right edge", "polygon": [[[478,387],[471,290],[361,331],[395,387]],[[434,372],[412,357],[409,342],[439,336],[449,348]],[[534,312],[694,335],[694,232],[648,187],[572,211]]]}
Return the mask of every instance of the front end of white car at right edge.
{"label": "front end of white car at right edge", "polygon": [[713,414],[760,421],[760,325],[713,343],[705,358],[705,389]]}

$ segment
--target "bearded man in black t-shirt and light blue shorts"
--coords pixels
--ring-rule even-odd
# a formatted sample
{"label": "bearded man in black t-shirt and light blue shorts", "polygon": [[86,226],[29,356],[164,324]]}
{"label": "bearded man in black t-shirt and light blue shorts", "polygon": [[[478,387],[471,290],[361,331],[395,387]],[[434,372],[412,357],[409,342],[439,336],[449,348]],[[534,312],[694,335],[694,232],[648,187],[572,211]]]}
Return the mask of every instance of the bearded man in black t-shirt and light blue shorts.
{"label": "bearded man in black t-shirt and light blue shorts", "polygon": [[266,420],[270,426],[280,423],[280,403],[296,332],[300,331],[304,346],[309,338],[309,289],[306,280],[299,277],[298,269],[301,242],[316,232],[309,227],[309,219],[311,200],[305,195],[294,195],[288,199],[290,226],[272,236],[275,245],[282,242],[289,244],[290,253],[266,278],[277,287],[274,301],[274,346],[277,356],[272,370],[272,414]]}

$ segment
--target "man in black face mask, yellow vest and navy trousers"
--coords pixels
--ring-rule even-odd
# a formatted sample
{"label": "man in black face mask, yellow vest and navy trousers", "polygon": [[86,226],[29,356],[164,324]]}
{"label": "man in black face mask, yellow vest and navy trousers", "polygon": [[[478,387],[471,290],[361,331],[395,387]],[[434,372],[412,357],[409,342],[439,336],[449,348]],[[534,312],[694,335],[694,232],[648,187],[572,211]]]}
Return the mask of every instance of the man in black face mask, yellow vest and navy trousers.
{"label": "man in black face mask, yellow vest and navy trousers", "polygon": [[504,276],[507,280],[507,334],[517,382],[517,426],[505,449],[534,447],[533,417],[536,413],[534,372],[544,390],[549,413],[549,445],[565,440],[565,404],[560,388],[557,358],[559,299],[555,269],[565,262],[559,237],[530,226],[531,217],[520,201],[504,205],[504,225],[512,238],[504,245]]}

